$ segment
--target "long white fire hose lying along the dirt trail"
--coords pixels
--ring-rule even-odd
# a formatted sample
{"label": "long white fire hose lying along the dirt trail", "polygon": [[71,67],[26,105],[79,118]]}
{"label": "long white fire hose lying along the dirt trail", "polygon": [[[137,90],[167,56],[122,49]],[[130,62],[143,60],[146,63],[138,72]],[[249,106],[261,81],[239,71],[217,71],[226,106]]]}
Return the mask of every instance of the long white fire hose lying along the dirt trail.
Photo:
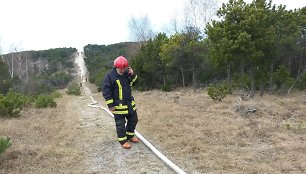
{"label": "long white fire hose lying along the dirt trail", "polygon": [[[91,96],[90,96],[92,102],[94,104],[97,104]],[[111,117],[114,118],[114,114],[111,113],[107,108],[102,107],[102,106],[97,106],[94,104],[89,104],[89,107],[94,107],[94,108],[102,108],[104,111],[106,111]],[[177,165],[175,165],[172,161],[170,161],[165,155],[163,155],[161,152],[159,152],[149,141],[147,141],[140,133],[138,133],[135,130],[135,135],[149,148],[151,151],[159,158],[161,159],[164,163],[166,163],[173,171],[179,174],[186,174],[182,169],[180,169]]]}

